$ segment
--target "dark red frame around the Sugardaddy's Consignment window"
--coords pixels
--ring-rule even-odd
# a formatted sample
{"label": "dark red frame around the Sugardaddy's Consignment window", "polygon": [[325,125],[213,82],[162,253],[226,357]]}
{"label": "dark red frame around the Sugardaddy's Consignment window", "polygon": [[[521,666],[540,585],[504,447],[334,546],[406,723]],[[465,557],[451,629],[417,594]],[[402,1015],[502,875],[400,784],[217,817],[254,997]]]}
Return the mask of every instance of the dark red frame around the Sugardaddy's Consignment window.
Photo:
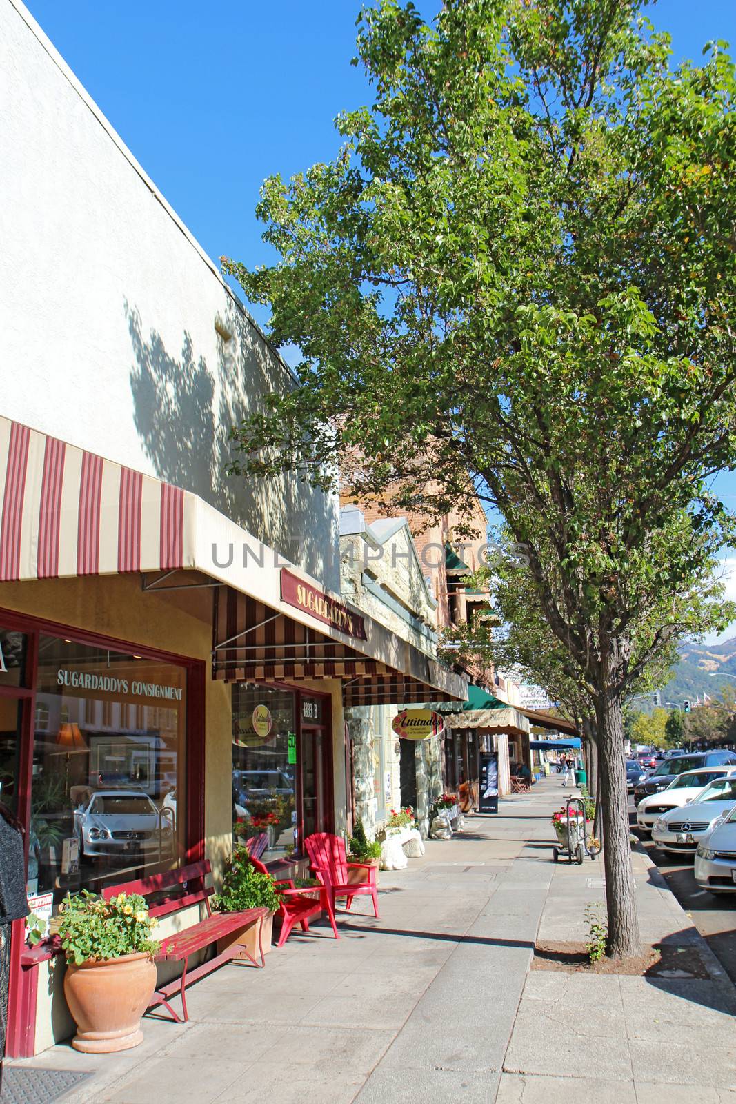
{"label": "dark red frame around the Sugardaddy's Consignment window", "polygon": [[[184,864],[198,862],[204,858],[204,679],[206,662],[203,659],[192,659],[177,652],[150,648],[135,640],[124,640],[119,637],[105,636],[100,633],[88,633],[84,629],[60,622],[46,620],[19,614],[17,611],[0,608],[0,626],[24,633],[28,638],[25,656],[25,672],[23,687],[0,686],[1,698],[15,698],[22,705],[21,714],[21,754],[18,766],[18,802],[15,814],[25,827],[25,862],[28,868],[29,827],[31,817],[31,777],[33,773],[33,743],[35,718],[35,692],[39,669],[39,637],[42,633],[58,636],[62,639],[74,640],[76,644],[89,644],[102,648],[110,648],[122,652],[135,654],[143,659],[174,664],[186,671],[186,720],[185,720],[185,822],[184,822]],[[8,1058],[26,1058],[33,1053],[35,1033],[35,1000],[30,999],[25,988],[31,984],[31,975],[35,979],[35,970],[21,969],[21,956],[25,946],[25,922],[15,921],[12,925],[10,941],[10,978],[8,995],[8,1031],[6,1054]],[[26,975],[24,985],[23,974]]]}

